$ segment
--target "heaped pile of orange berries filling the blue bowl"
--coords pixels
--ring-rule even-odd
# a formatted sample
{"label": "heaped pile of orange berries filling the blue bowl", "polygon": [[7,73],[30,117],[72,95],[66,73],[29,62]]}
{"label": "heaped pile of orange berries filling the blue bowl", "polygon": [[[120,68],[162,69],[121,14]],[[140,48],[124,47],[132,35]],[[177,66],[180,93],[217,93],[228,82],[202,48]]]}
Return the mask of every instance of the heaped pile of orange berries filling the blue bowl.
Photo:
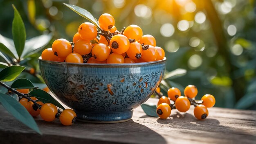
{"label": "heaped pile of orange berries filling the blue bowl", "polygon": [[42,59],[68,63],[139,63],[164,59],[164,50],[156,46],[155,37],[143,35],[137,25],[121,32],[115,27],[112,15],[99,17],[99,26],[82,23],[73,41],[56,39],[52,48],[42,52]]}

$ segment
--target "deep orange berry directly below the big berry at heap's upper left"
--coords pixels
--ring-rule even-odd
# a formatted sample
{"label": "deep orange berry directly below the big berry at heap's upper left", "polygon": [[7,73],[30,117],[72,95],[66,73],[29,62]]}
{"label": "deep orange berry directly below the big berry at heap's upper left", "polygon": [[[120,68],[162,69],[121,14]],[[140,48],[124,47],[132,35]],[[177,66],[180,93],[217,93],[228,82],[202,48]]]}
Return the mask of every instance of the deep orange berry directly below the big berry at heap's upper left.
{"label": "deep orange berry directly below the big berry at heap's upper left", "polygon": [[87,55],[92,51],[92,43],[90,41],[78,40],[74,45],[74,52],[80,55]]}

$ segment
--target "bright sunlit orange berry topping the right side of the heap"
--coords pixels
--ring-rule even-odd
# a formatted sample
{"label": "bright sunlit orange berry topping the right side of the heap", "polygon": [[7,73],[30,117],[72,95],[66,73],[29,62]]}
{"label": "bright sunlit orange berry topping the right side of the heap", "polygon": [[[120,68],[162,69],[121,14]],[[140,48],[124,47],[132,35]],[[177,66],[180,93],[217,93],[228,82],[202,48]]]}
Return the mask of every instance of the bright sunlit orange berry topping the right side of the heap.
{"label": "bright sunlit orange berry topping the right side of the heap", "polygon": [[127,28],[124,30],[124,35],[128,39],[135,39],[135,41],[138,41],[139,39],[141,39],[143,33],[142,29],[139,26],[132,24],[130,26],[127,26]]}

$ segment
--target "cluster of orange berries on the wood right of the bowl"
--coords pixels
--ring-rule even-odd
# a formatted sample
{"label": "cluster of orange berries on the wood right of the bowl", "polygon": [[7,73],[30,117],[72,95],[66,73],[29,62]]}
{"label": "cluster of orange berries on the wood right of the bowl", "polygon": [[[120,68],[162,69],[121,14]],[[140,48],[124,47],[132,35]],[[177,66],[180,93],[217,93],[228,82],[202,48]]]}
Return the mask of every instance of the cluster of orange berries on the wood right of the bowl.
{"label": "cluster of orange berries on the wood right of the bowl", "polygon": [[[158,89],[158,93],[159,93]],[[196,102],[192,98],[195,98],[195,96],[198,94],[198,89],[195,87],[195,85],[188,85],[184,89],[184,95],[181,96],[180,89],[177,89],[176,87],[172,87],[168,89],[167,95],[162,96],[158,103],[157,103],[157,115],[160,118],[168,118],[171,115],[171,109],[177,109],[180,112],[186,112],[189,110],[190,105],[194,105],[194,116],[198,120],[203,120],[207,118],[208,116],[208,109],[209,107],[213,107],[215,105],[215,98],[211,94],[205,94],[201,98],[201,102]],[[173,101],[173,104],[171,104],[171,101]]]}

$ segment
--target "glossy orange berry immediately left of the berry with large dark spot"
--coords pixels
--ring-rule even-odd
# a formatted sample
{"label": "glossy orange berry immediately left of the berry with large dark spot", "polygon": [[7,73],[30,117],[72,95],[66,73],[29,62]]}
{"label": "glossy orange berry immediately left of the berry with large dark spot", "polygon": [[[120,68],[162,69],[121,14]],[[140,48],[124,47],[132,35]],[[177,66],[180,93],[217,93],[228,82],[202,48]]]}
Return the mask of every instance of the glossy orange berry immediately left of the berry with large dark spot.
{"label": "glossy orange berry immediately left of the berry with large dark spot", "polygon": [[95,44],[92,48],[92,57],[97,61],[105,61],[110,54],[110,48],[106,44]]}

